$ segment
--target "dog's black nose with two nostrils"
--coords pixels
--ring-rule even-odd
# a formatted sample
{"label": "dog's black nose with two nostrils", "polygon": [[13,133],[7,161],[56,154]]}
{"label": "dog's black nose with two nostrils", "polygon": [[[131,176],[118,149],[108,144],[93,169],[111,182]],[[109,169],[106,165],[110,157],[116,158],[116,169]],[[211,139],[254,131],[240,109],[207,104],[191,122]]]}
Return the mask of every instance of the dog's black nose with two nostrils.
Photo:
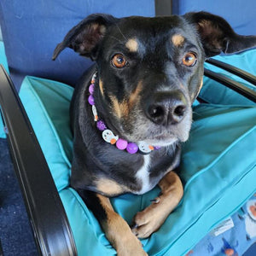
{"label": "dog's black nose with two nostrils", "polygon": [[186,110],[182,92],[159,92],[149,100],[147,115],[157,125],[174,125],[183,120]]}

